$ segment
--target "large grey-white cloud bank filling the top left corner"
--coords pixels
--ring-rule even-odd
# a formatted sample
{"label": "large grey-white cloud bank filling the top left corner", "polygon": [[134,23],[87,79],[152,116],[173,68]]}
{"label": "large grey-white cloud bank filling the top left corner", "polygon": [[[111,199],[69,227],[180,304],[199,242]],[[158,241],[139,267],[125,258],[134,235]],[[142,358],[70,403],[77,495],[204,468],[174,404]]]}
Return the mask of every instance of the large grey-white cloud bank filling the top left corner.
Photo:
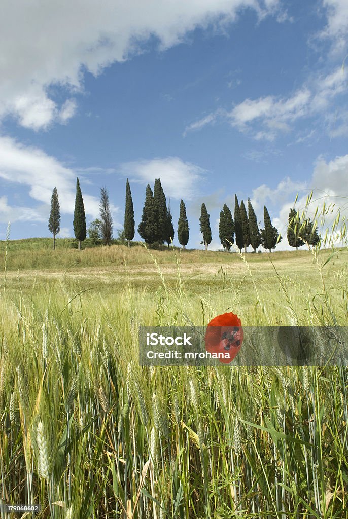
{"label": "large grey-white cloud bank filling the top left corner", "polygon": [[[276,13],[278,0],[18,0],[2,3],[0,18],[0,117],[47,128],[66,122],[73,105],[59,107],[48,89],[83,89],[85,71],[98,75],[141,51],[150,37],[160,50],[182,42],[195,28],[222,29],[245,8],[259,18]],[[14,22],[15,20],[15,22]]]}

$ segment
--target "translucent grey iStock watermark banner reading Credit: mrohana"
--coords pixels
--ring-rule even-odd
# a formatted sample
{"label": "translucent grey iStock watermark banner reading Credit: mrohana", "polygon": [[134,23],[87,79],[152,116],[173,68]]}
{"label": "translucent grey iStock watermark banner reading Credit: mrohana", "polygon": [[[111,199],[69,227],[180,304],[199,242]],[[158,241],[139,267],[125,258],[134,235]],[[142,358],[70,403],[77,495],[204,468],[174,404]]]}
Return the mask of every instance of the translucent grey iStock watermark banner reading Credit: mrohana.
{"label": "translucent grey iStock watermark banner reading Credit: mrohana", "polygon": [[139,328],[142,366],[348,365],[346,326]]}

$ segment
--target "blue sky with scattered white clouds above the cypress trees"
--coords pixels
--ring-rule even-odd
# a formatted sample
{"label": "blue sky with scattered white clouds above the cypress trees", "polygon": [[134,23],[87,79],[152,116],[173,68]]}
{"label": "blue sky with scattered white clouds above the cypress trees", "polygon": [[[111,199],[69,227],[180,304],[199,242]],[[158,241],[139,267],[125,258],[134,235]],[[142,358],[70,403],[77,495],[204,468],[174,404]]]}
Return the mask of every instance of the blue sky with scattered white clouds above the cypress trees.
{"label": "blue sky with scattered white clouds above the cypress trees", "polygon": [[160,177],[198,248],[203,201],[212,249],[235,193],[259,220],[266,204],[279,230],[297,193],[299,209],[312,188],[342,203],[346,0],[19,4],[6,0],[0,21],[0,239],[8,221],[12,239],[50,236],[54,186],[59,236],[73,236],[76,176],[87,224],[108,188],[115,235],[126,177],[136,227]]}

